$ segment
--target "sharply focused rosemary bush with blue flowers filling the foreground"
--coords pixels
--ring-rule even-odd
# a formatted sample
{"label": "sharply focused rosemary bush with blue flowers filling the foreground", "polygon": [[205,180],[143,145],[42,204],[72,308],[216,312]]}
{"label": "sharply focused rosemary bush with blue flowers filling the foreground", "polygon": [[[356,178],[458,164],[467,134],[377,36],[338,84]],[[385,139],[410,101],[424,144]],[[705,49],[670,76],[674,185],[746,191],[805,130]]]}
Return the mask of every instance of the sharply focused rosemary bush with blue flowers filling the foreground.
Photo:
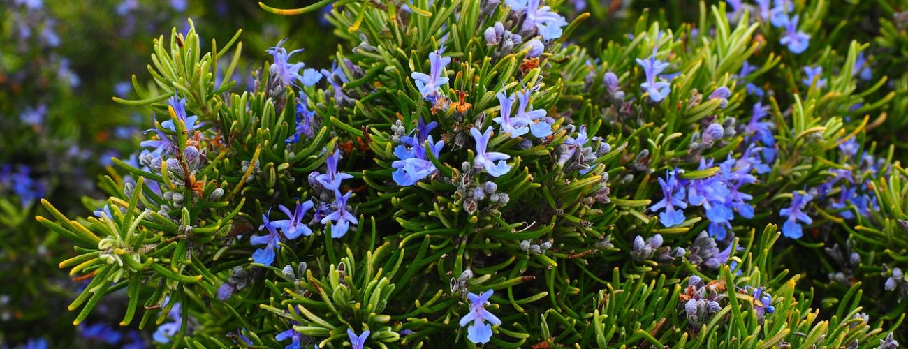
{"label": "sharply focused rosemary bush with blue flowers filling the foreground", "polygon": [[172,347],[906,339],[905,4],[260,5],[340,44],[238,85],[246,33],[174,28],[94,215],[41,200],[74,325],[120,297]]}

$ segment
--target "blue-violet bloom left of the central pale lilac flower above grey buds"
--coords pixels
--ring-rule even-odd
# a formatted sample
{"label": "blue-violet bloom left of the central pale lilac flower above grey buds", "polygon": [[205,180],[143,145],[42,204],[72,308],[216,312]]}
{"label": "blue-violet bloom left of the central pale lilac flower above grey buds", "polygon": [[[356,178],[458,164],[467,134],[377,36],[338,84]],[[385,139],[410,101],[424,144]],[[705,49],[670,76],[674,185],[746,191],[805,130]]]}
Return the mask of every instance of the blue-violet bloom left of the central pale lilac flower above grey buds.
{"label": "blue-violet bloom left of the central pale lilac flower above grey buds", "polygon": [[411,186],[437,171],[435,164],[427,157],[425,147],[426,141],[429,141],[429,151],[436,158],[439,157],[445,142],[434,142],[429,134],[436,126],[438,126],[438,122],[432,121],[427,125],[420,118],[416,128],[417,136],[403,136],[400,138],[402,144],[394,149],[394,155],[400,160],[391,163],[391,168],[396,169],[391,174],[391,178],[401,187]]}

